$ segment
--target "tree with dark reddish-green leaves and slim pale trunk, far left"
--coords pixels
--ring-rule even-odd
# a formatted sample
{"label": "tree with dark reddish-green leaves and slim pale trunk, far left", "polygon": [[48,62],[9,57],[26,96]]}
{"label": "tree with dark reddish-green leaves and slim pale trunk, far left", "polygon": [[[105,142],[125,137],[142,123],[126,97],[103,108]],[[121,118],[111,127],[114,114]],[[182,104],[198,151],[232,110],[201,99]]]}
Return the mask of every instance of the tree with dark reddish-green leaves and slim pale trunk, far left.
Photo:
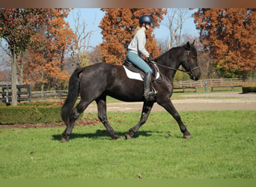
{"label": "tree with dark reddish-green leaves and slim pale trunk, far left", "polygon": [[16,58],[28,48],[34,28],[45,22],[50,14],[51,11],[46,9],[0,8],[0,37],[8,43],[12,58],[12,105],[17,105],[16,67],[18,64]]}

